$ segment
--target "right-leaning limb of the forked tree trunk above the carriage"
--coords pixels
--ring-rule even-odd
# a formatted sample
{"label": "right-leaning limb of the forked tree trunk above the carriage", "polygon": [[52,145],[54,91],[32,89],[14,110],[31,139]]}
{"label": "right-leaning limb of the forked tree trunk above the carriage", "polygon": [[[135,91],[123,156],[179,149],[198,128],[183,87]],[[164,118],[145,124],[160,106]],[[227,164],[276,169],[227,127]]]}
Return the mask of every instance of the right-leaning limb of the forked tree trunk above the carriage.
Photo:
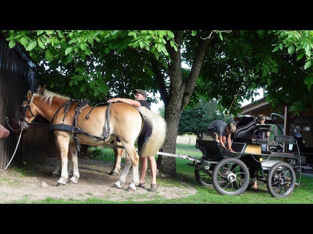
{"label": "right-leaning limb of the forked tree trunk above the carriage", "polygon": [[181,110],[189,103],[192,92],[195,89],[203,60],[206,56],[208,49],[214,44],[214,39],[202,40],[201,44],[196,52],[195,58],[192,63],[192,67],[187,80],[185,81],[185,92],[181,102]]}

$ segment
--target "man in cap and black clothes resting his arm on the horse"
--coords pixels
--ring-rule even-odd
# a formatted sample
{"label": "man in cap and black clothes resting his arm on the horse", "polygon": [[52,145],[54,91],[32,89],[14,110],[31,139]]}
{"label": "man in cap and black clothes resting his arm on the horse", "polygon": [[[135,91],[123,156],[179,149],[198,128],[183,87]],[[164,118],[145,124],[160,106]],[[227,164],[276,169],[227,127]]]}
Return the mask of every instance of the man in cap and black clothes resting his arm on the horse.
{"label": "man in cap and black clothes resting his arm on the horse", "polygon": [[[128,99],[128,98],[112,98],[108,100],[107,102],[124,102],[127,104],[130,104],[134,107],[141,107],[144,106],[147,109],[151,110],[149,103],[146,101],[147,93],[144,90],[141,89],[134,89],[135,92],[135,100]],[[144,188],[145,187],[145,176],[148,168],[148,161],[150,163],[150,169],[151,169],[151,187],[148,189],[151,192],[155,192],[157,189],[158,184],[156,183],[156,158],[155,156],[142,156],[140,154],[143,144],[149,139],[152,133],[151,126],[145,122],[143,129],[141,133],[139,134],[137,144],[138,144],[138,153],[139,153],[139,159],[140,159],[140,177],[139,177],[139,185],[138,187]]]}

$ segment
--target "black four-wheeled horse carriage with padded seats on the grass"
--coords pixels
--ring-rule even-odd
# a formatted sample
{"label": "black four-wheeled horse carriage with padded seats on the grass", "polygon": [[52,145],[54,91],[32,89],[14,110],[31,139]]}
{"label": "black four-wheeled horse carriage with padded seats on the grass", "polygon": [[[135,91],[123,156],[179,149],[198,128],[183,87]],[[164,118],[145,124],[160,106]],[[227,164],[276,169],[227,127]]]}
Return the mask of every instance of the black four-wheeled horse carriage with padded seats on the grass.
{"label": "black four-wheeled horse carriage with padded seats on the grass", "polygon": [[[274,142],[258,139],[261,132],[268,132],[269,125],[256,126],[255,121],[237,124],[232,136],[232,149],[224,148],[215,140],[215,134],[200,132],[196,147],[201,150],[201,159],[188,163],[195,167],[197,181],[206,187],[214,187],[221,195],[240,195],[256,180],[266,183],[274,197],[291,194],[300,185],[301,161],[297,141],[292,136],[277,135]],[[261,149],[266,146],[266,150]],[[292,147],[297,153],[279,152],[281,147]]]}

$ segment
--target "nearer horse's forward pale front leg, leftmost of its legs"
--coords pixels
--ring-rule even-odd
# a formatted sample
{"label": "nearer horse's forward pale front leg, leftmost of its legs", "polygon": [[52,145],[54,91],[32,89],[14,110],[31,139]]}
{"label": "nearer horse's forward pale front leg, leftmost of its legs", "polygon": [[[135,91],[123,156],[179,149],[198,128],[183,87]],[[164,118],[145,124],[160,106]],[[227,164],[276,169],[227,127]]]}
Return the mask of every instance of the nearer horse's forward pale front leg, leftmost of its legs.
{"label": "nearer horse's forward pale front leg, leftmost of its legs", "polygon": [[70,135],[67,132],[55,131],[55,137],[56,137],[57,147],[61,155],[61,164],[62,164],[61,177],[57,183],[57,186],[59,186],[59,185],[65,185],[67,183],[67,178],[68,178],[67,153],[68,153],[68,144],[69,144]]}

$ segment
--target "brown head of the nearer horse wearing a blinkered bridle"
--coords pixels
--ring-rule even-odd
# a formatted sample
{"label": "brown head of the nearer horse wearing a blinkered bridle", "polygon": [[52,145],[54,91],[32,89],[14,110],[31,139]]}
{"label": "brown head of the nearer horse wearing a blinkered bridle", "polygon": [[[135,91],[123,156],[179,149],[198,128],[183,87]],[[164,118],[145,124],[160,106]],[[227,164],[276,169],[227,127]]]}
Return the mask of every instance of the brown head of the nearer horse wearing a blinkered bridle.
{"label": "brown head of the nearer horse wearing a blinkered bridle", "polygon": [[28,128],[29,124],[37,117],[38,112],[37,112],[37,107],[36,105],[32,102],[33,95],[36,92],[31,92],[28,91],[27,93],[27,99],[23,101],[22,105],[20,106],[20,121],[19,125],[21,126],[22,122],[24,122],[24,127]]}

